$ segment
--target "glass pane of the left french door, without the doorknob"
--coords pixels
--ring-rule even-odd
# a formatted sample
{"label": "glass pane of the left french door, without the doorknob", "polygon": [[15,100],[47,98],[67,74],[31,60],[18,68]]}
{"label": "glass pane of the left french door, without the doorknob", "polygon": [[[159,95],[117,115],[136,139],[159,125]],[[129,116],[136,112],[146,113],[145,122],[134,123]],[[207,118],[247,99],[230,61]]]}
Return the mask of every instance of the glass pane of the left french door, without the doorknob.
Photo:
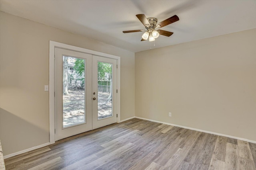
{"label": "glass pane of the left french door, without the doorknob", "polygon": [[85,122],[85,59],[63,56],[63,128]]}

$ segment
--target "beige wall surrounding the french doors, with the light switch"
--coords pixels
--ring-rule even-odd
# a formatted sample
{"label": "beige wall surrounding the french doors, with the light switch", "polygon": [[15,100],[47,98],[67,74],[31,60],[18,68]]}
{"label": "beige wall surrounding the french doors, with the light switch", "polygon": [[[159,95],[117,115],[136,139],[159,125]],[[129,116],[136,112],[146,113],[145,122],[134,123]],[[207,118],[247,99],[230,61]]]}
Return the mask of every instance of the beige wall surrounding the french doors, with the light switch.
{"label": "beige wall surrounding the french doors, with the light switch", "polygon": [[49,142],[49,40],[121,57],[121,120],[134,116],[134,53],[0,13],[0,139],[4,155]]}

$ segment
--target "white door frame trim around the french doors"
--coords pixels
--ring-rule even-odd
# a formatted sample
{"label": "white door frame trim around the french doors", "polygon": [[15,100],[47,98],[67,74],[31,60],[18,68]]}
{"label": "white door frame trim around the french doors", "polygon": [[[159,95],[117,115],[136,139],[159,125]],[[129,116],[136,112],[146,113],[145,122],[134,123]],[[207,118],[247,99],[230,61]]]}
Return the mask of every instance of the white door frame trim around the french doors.
{"label": "white door frame trim around the french doors", "polygon": [[116,82],[117,82],[117,104],[116,104],[116,114],[117,117],[117,123],[120,122],[120,58],[115,55],[110,55],[106,53],[101,53],[98,51],[93,51],[89,49],[84,49],[81,47],[76,47],[73,45],[67,45],[63,43],[58,43],[55,41],[50,41],[49,43],[49,132],[50,132],[50,144],[55,143],[55,120],[54,120],[54,48],[62,48],[72,51],[78,51],[81,53],[87,53],[92,55],[97,55],[100,57],[106,57],[110,59],[116,59],[116,63],[118,65],[118,69],[116,70]]}

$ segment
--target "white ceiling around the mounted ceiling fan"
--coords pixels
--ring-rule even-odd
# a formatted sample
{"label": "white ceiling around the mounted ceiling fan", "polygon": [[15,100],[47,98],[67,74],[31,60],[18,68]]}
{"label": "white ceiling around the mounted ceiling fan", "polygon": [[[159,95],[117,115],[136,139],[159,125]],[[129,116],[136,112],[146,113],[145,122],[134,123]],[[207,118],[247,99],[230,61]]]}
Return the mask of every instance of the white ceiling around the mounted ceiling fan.
{"label": "white ceiling around the mounted ceiling fan", "polygon": [[[256,0],[1,0],[0,10],[132,52],[256,28]],[[136,14],[180,20],[154,46],[143,32],[122,33],[145,28]]]}

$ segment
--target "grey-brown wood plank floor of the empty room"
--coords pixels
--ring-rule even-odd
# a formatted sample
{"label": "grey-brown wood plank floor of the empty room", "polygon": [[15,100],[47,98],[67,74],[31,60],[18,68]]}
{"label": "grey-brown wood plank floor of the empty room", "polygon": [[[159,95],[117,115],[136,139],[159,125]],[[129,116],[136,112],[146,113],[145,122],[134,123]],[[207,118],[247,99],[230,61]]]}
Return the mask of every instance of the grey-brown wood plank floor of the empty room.
{"label": "grey-brown wood plank floor of the empty room", "polygon": [[256,170],[256,144],[134,118],[5,164],[7,170]]}

